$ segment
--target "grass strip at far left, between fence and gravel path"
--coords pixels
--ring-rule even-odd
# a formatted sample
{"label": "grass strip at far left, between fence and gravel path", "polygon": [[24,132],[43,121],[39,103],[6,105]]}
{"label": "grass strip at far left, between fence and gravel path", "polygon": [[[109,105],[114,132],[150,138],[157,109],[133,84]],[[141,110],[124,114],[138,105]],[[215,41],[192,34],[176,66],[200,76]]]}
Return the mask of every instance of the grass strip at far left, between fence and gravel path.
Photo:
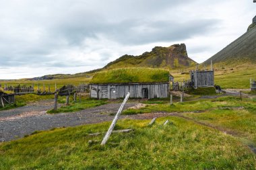
{"label": "grass strip at far left, between fence and gravel path", "polygon": [[1,110],[10,110],[13,108],[22,107],[28,103],[39,101],[42,99],[53,99],[53,95],[35,95],[35,94],[26,94],[26,95],[15,95],[15,103],[5,105],[5,108],[0,108]]}

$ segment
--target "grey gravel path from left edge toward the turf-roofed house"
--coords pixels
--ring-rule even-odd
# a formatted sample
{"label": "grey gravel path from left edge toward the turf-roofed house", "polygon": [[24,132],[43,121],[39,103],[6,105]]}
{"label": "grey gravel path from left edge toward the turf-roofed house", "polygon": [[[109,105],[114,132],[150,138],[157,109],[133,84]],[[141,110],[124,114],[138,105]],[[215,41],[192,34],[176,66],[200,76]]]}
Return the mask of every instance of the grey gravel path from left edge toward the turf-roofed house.
{"label": "grey gravel path from left edge toward the turf-roofed house", "polygon": [[[127,103],[125,108],[137,103]],[[77,126],[113,120],[121,103],[109,103],[79,112],[46,114],[53,108],[53,100],[32,103],[21,108],[0,112],[0,142],[13,140],[31,134],[35,130],[49,130],[57,127]]]}

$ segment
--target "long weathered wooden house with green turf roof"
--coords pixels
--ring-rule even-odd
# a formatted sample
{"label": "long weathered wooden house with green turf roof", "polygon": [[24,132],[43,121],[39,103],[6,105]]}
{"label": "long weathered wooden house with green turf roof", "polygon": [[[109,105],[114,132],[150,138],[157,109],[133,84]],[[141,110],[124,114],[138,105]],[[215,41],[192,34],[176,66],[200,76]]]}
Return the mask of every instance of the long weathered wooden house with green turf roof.
{"label": "long weathered wooden house with green turf roof", "polygon": [[90,97],[102,99],[168,97],[170,74],[162,69],[129,68],[96,73],[90,82]]}

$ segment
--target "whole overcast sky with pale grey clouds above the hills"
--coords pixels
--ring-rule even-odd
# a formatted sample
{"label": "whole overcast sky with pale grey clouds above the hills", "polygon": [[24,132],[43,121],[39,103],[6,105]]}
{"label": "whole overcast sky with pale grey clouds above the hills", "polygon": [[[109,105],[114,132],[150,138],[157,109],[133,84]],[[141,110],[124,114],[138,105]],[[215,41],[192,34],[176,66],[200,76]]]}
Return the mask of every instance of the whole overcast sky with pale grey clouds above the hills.
{"label": "whole overcast sky with pale grey clouds above the hills", "polygon": [[185,43],[203,62],[244,34],[253,0],[0,0],[0,79],[81,73]]}

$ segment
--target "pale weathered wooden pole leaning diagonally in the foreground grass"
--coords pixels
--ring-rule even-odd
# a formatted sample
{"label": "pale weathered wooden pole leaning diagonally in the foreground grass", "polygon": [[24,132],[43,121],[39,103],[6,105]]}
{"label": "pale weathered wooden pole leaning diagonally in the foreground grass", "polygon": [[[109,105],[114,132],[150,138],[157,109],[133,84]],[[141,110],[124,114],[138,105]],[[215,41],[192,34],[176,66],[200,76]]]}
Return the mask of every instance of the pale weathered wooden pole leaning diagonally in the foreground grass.
{"label": "pale weathered wooden pole leaning diagonally in the foreground grass", "polygon": [[115,125],[117,124],[117,119],[119,117],[119,115],[121,114],[123,107],[125,106],[126,101],[129,99],[130,93],[128,92],[125,99],[123,100],[123,103],[121,104],[119,110],[117,111],[117,114],[112,122],[112,124],[110,125],[110,127],[108,128],[108,132],[106,132],[102,142],[100,145],[104,145],[106,144],[106,141],[108,141],[108,138],[110,136],[110,134],[112,133],[113,129],[115,128]]}

